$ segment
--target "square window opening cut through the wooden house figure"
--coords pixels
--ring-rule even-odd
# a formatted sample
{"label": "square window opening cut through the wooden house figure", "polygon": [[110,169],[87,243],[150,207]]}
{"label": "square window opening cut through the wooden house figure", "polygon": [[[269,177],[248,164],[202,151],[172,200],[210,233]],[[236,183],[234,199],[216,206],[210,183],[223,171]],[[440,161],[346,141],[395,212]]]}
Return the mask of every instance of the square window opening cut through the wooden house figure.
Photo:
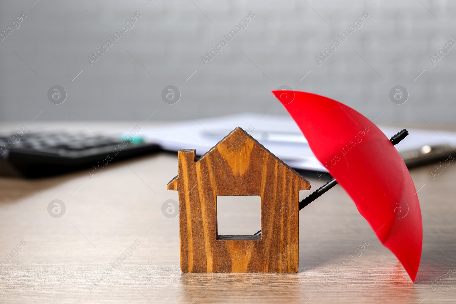
{"label": "square window opening cut through the wooden house figure", "polygon": [[260,240],[261,196],[217,196],[217,239]]}

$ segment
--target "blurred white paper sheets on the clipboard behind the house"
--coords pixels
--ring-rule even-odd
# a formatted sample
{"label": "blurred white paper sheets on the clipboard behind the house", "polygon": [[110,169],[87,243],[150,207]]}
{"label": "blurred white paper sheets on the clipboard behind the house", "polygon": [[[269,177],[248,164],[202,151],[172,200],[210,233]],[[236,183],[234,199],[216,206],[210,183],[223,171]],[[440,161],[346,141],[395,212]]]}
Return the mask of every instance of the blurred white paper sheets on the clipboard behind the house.
{"label": "blurred white paper sheets on the clipboard behind the house", "polygon": [[[327,171],[316,159],[306,138],[291,117],[242,113],[211,119],[193,119],[164,127],[147,127],[143,128],[141,133],[146,141],[160,144],[162,149],[196,149],[197,155],[203,155],[236,127],[244,129],[292,168]],[[379,128],[388,138],[402,129],[383,126]],[[409,136],[396,146],[399,153],[442,144],[456,147],[456,133],[407,130]]]}

